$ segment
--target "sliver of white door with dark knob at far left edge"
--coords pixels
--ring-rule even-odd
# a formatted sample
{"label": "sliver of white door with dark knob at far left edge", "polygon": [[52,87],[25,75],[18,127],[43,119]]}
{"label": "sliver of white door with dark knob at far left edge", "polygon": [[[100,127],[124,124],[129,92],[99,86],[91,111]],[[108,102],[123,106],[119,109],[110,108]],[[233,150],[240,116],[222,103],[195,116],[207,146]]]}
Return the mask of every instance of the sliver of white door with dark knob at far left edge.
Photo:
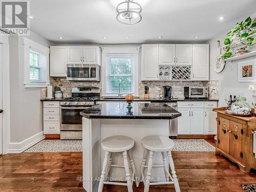
{"label": "sliver of white door with dark knob at far left edge", "polygon": [[3,45],[0,44],[0,154],[3,153],[3,103],[2,103],[2,77],[3,77]]}

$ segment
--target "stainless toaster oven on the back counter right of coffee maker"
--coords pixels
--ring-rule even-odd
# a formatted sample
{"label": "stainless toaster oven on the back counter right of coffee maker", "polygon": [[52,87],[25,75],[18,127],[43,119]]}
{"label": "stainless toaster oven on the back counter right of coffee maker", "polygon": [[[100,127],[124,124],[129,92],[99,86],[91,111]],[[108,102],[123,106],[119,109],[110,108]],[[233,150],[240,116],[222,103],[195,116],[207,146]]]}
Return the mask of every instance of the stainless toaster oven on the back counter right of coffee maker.
{"label": "stainless toaster oven on the back counter right of coffee maker", "polygon": [[184,87],[185,98],[207,98],[207,87]]}

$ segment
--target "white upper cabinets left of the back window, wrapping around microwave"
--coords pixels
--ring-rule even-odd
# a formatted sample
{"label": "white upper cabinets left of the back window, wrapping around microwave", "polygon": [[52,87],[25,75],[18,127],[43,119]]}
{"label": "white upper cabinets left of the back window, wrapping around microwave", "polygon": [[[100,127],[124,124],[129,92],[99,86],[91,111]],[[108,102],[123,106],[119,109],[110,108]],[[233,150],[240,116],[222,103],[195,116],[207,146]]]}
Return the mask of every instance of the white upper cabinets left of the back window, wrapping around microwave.
{"label": "white upper cabinets left of the back window, wrapping around microwave", "polygon": [[50,76],[66,77],[67,64],[100,65],[101,51],[96,46],[51,46]]}

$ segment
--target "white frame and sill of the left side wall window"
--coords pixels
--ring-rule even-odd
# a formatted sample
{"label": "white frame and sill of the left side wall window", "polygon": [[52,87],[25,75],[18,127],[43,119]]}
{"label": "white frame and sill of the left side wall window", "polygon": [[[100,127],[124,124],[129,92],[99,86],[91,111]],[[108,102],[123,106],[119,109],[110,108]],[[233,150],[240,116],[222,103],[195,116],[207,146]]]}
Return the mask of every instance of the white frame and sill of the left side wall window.
{"label": "white frame and sill of the left side wall window", "polygon": [[[49,54],[50,49],[48,47],[42,46],[37,42],[23,37],[23,47],[24,47],[24,86],[25,88],[44,88],[49,86]],[[29,50],[37,50],[38,52],[45,54],[47,56],[47,82],[33,82],[30,81],[30,62],[29,62]]]}

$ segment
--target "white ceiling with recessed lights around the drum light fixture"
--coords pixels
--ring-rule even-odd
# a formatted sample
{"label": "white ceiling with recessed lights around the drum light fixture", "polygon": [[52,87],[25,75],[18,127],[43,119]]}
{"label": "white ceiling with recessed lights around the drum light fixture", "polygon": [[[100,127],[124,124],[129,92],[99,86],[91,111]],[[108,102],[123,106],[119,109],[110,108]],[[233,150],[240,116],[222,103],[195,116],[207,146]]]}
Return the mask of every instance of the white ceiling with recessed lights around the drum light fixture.
{"label": "white ceiling with recessed lights around the drum light fixture", "polygon": [[135,0],[142,6],[142,20],[124,25],[116,20],[116,5],[122,0],[30,2],[32,31],[56,43],[74,44],[206,41],[256,10],[255,0]]}

